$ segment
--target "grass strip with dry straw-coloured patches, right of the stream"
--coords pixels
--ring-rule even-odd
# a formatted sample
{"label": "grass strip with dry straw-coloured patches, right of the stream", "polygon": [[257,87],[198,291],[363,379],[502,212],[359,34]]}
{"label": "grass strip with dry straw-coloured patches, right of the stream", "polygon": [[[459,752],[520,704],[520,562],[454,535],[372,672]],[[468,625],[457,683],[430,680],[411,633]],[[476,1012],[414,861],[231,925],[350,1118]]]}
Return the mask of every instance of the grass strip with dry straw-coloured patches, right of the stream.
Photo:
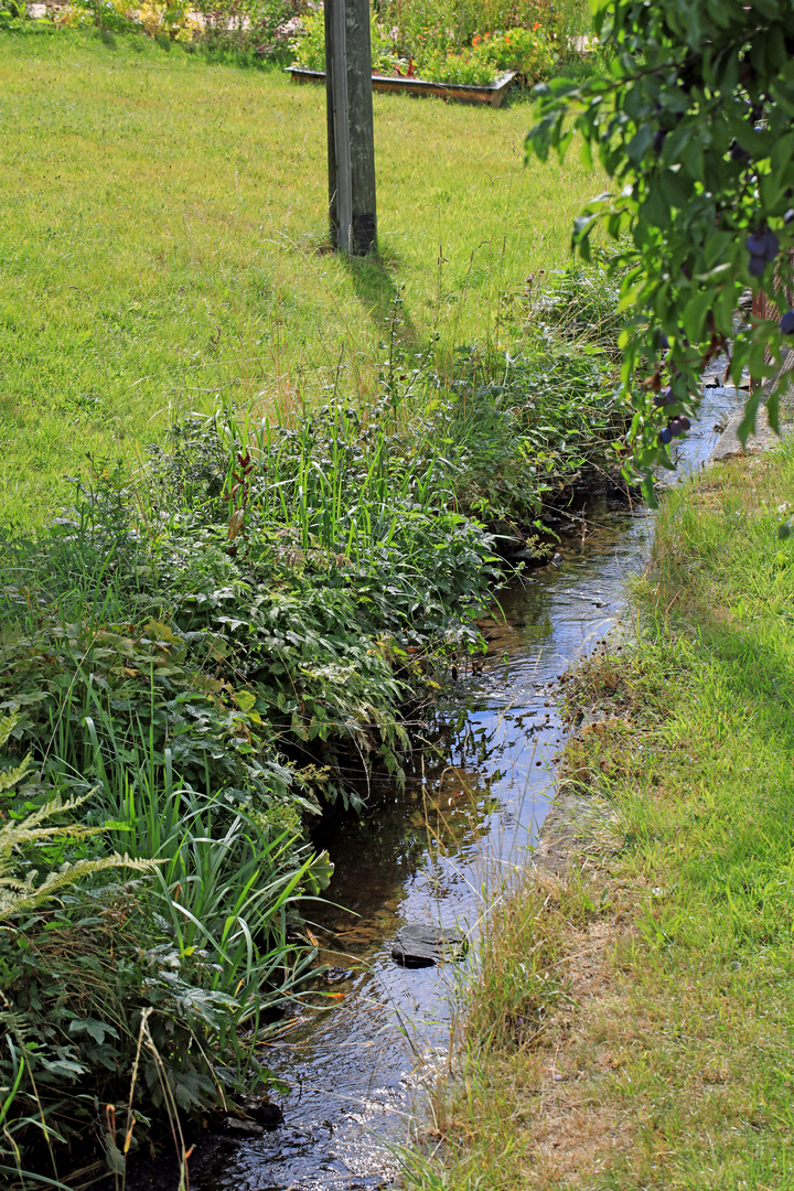
{"label": "grass strip with dry straw-coloured patches, right of the stream", "polygon": [[789,447],[670,497],[637,647],[574,676],[592,830],[502,908],[424,1186],[794,1186],[793,485]]}

